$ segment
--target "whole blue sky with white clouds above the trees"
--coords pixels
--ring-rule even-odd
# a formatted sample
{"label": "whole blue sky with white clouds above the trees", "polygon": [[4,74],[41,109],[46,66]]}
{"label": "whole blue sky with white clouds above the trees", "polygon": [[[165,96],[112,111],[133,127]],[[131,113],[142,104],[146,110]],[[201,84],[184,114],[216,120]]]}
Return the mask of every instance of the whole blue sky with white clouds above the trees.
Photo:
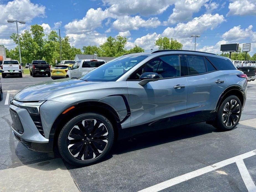
{"label": "whole blue sky with white clouds above the trees", "polygon": [[20,32],[32,24],[42,25],[45,33],[61,30],[77,48],[100,45],[108,36],[128,38],[127,49],[135,45],[146,51],[157,50],[159,37],[177,39],[183,49],[220,52],[225,43],[252,43],[256,51],[256,0],[86,0],[86,1],[1,1],[0,44],[13,48],[9,35],[14,24],[7,19],[26,20]]}

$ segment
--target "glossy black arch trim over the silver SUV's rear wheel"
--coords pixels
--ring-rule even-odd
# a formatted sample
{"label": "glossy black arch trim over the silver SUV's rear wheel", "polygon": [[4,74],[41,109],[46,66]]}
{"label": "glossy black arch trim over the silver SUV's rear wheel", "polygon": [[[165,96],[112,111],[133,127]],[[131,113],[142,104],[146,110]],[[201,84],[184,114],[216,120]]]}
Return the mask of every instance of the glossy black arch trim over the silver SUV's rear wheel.
{"label": "glossy black arch trim over the silver SUV's rear wheel", "polygon": [[230,95],[237,96],[241,102],[242,108],[244,108],[245,99],[246,99],[246,94],[245,94],[244,90],[239,85],[231,85],[231,86],[227,87],[227,89],[225,89],[222,92],[222,94],[219,97],[219,100],[217,102],[216,110],[219,109],[221,102],[224,101]]}

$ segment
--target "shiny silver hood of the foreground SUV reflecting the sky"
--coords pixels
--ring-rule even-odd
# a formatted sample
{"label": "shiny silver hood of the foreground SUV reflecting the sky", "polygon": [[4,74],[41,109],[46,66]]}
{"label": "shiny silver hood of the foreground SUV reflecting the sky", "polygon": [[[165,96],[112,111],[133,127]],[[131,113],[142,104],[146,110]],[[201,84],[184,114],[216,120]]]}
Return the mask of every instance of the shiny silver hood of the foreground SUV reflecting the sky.
{"label": "shiny silver hood of the foreground SUV reflecting the sky", "polygon": [[50,95],[65,89],[77,90],[78,87],[100,82],[87,82],[78,79],[59,79],[30,85],[14,96],[17,101],[48,100]]}

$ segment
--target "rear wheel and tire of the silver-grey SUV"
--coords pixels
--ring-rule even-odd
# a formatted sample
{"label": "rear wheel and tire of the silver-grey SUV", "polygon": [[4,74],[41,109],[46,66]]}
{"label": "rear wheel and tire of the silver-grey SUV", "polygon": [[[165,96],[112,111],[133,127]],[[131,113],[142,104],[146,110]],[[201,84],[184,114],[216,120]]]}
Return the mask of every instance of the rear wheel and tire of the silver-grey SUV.
{"label": "rear wheel and tire of the silver-grey SUV", "polygon": [[234,129],[242,114],[242,105],[238,97],[227,97],[220,105],[217,113],[216,128],[222,131]]}

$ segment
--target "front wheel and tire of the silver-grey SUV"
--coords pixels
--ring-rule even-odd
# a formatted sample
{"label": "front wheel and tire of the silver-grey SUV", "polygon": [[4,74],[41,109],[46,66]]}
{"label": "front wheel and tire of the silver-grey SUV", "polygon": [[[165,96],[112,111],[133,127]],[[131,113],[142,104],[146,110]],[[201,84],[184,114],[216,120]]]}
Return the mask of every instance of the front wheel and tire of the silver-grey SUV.
{"label": "front wheel and tire of the silver-grey SUV", "polygon": [[64,160],[86,166],[102,160],[110,151],[114,130],[110,121],[97,113],[84,113],[61,129],[58,149]]}

